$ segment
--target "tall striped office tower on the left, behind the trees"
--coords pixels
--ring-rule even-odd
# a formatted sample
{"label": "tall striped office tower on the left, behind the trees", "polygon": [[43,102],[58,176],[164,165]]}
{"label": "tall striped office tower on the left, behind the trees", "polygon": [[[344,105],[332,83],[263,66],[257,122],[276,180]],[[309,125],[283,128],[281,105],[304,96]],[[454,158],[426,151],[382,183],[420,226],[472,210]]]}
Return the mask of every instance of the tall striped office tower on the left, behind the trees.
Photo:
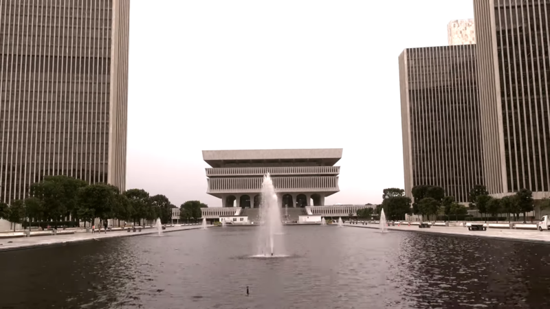
{"label": "tall striped office tower on the left, behind the trees", "polygon": [[0,202],[47,175],[124,190],[129,0],[0,0]]}

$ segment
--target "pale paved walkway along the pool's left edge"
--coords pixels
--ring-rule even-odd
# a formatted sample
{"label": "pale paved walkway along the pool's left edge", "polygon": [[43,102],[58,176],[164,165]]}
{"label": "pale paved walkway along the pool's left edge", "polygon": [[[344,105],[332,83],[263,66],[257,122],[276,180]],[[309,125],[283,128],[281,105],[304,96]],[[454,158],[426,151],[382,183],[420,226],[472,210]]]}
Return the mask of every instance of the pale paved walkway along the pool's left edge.
{"label": "pale paved walkway along the pool's left edge", "polygon": [[[201,229],[201,225],[185,225],[166,227],[163,233],[170,233],[175,231],[186,231],[188,229]],[[95,239],[102,238],[117,238],[117,237],[129,237],[129,236],[143,236],[149,234],[158,233],[156,229],[143,229],[141,232],[128,232],[128,231],[107,231],[107,233],[74,233],[68,235],[52,235],[52,236],[40,236],[40,237],[25,237],[25,238],[9,238],[0,240],[0,252],[17,249],[27,249],[34,247],[52,246],[56,244],[68,244],[72,242],[87,242]]]}

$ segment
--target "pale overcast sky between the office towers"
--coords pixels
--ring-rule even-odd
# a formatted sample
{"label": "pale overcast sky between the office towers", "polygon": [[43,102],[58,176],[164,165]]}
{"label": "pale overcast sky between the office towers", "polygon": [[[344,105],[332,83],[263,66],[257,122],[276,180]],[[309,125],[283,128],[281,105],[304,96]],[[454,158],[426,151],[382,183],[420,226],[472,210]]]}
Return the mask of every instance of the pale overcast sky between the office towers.
{"label": "pale overcast sky between the office towers", "polygon": [[221,207],[201,150],[343,148],[325,205],[380,203],[404,188],[397,57],[472,2],[132,1],[126,189]]}

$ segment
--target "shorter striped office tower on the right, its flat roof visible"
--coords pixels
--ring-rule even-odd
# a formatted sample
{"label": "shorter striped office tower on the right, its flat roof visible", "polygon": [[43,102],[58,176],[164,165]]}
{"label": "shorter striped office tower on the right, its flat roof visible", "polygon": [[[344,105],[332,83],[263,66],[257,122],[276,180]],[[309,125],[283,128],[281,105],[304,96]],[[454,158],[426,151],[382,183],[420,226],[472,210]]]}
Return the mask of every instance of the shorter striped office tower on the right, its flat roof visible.
{"label": "shorter striped office tower on the right, its flat roof visible", "polygon": [[476,45],[405,49],[399,56],[405,193],[443,187],[468,201],[483,184]]}

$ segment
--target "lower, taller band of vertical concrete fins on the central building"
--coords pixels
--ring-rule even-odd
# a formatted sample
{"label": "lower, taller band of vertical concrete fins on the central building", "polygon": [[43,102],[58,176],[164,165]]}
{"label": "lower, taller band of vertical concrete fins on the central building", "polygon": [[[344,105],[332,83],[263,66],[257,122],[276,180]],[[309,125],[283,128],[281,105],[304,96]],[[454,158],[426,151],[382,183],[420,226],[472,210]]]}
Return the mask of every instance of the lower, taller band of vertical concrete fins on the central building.
{"label": "lower, taller band of vertical concrete fins on the central building", "polygon": [[[207,179],[206,193],[261,192],[263,179],[212,178]],[[340,191],[338,176],[273,177],[275,192],[333,192]]]}

